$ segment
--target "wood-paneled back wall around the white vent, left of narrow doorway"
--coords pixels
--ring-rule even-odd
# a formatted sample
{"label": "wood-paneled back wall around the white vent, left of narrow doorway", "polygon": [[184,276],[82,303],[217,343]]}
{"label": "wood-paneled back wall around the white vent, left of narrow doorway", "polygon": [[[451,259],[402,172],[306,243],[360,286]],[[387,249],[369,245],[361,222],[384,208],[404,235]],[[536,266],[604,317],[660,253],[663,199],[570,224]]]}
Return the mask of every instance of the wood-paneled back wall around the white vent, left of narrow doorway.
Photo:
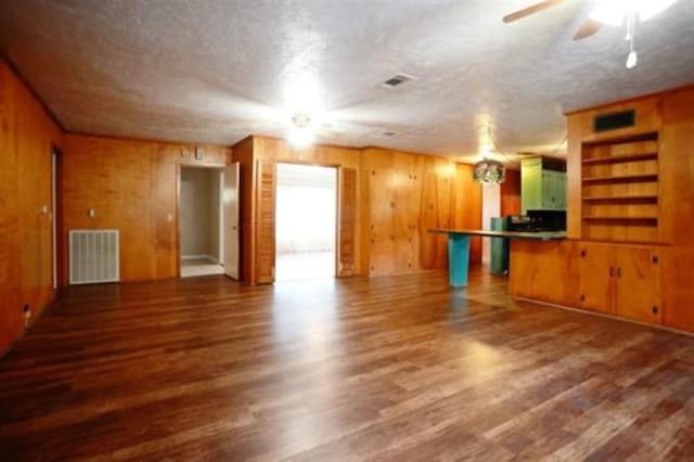
{"label": "wood-paneled back wall around the white vent, left of narrow doorway", "polygon": [[[180,165],[224,166],[231,149],[66,134],[63,143],[63,217],[60,242],[67,255],[70,229],[120,230],[120,279],[144,281],[179,273]],[[88,209],[95,217],[88,216]],[[67,283],[67,259],[62,261]]]}

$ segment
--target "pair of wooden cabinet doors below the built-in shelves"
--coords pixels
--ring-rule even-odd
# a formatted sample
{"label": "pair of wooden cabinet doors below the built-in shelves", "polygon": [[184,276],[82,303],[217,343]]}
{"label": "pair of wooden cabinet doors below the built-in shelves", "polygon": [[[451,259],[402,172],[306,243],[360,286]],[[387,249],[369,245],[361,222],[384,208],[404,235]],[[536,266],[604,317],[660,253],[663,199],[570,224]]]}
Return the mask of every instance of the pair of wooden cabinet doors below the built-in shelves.
{"label": "pair of wooden cabinet doors below the built-in shelves", "polygon": [[580,308],[660,323],[660,251],[580,243]]}

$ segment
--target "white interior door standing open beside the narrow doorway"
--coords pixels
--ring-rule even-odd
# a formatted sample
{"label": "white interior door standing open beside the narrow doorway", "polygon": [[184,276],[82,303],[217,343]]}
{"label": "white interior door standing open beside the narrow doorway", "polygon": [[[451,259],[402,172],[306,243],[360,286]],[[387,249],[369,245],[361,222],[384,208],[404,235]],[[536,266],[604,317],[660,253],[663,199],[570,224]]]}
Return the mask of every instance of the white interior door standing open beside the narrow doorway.
{"label": "white interior door standing open beside the narrow doorway", "polygon": [[224,167],[224,274],[239,279],[239,163]]}

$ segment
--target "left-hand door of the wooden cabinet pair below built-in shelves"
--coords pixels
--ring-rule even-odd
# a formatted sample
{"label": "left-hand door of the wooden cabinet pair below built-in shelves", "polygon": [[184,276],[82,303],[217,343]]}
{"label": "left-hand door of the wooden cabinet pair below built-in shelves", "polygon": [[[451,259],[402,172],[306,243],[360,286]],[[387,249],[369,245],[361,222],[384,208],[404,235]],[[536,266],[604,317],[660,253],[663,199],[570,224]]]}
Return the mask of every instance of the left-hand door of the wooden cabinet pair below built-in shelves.
{"label": "left-hand door of the wooden cabinet pair below built-in shelves", "polygon": [[613,278],[615,252],[608,245],[579,245],[580,307],[594,311],[615,312]]}

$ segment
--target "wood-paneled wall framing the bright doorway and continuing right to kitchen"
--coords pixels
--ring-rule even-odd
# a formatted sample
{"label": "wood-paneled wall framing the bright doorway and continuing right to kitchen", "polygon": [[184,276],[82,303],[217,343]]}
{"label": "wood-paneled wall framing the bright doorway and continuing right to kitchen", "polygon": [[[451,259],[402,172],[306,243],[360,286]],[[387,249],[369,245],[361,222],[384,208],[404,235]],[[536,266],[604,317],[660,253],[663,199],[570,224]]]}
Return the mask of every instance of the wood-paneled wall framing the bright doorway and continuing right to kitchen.
{"label": "wood-paneled wall framing the bright doorway and continuing right to kitchen", "polygon": [[[472,181],[472,167],[451,159],[377,147],[314,145],[294,150],[283,140],[265,137],[242,141],[233,153],[242,169],[242,278],[247,282],[259,282],[256,247],[269,245],[257,242],[254,232],[258,228],[258,163],[300,163],[354,171],[350,175],[357,188],[350,193],[354,210],[349,210],[355,228],[349,243],[354,270],[345,275],[446,268],[446,238],[427,230],[481,224],[481,189]],[[477,239],[472,255],[473,261],[481,259]]]}

